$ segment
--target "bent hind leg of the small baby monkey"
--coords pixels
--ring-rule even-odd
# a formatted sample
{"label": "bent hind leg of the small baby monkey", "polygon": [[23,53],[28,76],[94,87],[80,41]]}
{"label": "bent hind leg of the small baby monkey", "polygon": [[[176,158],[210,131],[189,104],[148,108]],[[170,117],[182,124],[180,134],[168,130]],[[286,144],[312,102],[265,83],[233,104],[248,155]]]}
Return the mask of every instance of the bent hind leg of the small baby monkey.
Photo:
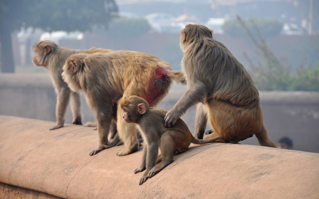
{"label": "bent hind leg of the small baby monkey", "polygon": [[[180,132],[178,132],[180,133]],[[157,174],[160,170],[162,170],[164,167],[169,165],[173,162],[173,155],[175,152],[174,149],[175,143],[173,138],[170,136],[169,131],[166,131],[163,133],[163,135],[160,138],[160,151],[162,156],[162,161],[156,164],[147,174],[148,178],[153,177],[155,174]]]}

